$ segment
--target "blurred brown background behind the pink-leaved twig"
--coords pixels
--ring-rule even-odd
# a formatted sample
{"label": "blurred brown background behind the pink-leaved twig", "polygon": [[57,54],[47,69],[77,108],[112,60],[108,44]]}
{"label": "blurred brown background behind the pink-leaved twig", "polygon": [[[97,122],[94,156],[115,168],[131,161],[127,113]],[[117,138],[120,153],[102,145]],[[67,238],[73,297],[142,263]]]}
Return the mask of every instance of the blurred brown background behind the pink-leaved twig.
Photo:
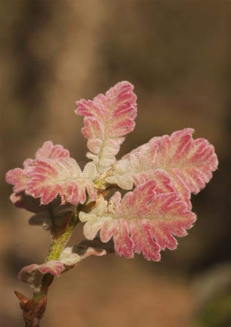
{"label": "blurred brown background behind the pink-leaved twig", "polygon": [[198,220],[176,251],[161,262],[88,258],[52,284],[41,326],[230,326],[230,1],[1,0],[0,22],[0,326],[24,326],[13,291],[31,290],[17,274],[50,242],[13,207],[4,174],[46,140],[85,161],[75,101],[121,80],[138,96],[121,155],[192,127],[215,146],[219,170],[193,196]]}

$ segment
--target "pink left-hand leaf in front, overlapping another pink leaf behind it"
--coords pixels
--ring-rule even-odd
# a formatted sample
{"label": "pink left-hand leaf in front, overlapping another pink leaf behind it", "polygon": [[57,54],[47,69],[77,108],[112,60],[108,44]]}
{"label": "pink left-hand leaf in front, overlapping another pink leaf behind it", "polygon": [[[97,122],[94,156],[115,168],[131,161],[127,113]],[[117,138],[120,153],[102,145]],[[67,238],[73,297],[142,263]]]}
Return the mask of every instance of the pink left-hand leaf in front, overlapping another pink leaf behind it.
{"label": "pink left-hand leaf in front, overlapping another pink leaf behind it", "polygon": [[95,199],[94,183],[96,166],[88,163],[83,172],[73,158],[35,160],[27,170],[26,193],[40,197],[41,204],[48,204],[58,195],[61,203],[73,205]]}

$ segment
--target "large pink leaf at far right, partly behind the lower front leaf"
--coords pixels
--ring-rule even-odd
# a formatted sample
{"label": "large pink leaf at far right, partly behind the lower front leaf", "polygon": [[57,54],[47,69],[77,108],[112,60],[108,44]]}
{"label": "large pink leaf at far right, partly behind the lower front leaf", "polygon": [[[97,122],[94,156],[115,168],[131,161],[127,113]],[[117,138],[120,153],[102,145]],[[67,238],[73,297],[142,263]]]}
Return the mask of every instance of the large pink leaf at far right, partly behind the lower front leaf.
{"label": "large pink leaf at far right, partly behind the lower front leaf", "polygon": [[218,165],[213,146],[203,138],[193,140],[192,134],[193,129],[187,128],[171,136],[152,138],[118,161],[106,181],[131,189],[133,183],[155,179],[161,172],[191,207],[191,193],[197,194],[205,187]]}

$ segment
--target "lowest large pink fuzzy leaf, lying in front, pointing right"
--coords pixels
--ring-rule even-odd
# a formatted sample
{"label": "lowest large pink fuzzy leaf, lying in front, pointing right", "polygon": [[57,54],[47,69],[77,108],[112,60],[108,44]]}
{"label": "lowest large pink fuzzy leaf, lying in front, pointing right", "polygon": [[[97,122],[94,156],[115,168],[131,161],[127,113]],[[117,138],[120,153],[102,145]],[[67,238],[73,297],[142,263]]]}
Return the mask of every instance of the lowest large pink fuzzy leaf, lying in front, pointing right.
{"label": "lowest large pink fuzzy leaf, lying in front, pointing right", "polygon": [[88,240],[100,231],[103,242],[113,237],[117,255],[132,258],[134,252],[142,252],[145,259],[154,261],[160,260],[160,250],[175,249],[173,235],[187,235],[186,229],[196,220],[177,192],[158,193],[154,180],[138,185],[122,199],[116,192],[109,205],[101,199],[91,213],[80,212],[79,218],[86,222]]}

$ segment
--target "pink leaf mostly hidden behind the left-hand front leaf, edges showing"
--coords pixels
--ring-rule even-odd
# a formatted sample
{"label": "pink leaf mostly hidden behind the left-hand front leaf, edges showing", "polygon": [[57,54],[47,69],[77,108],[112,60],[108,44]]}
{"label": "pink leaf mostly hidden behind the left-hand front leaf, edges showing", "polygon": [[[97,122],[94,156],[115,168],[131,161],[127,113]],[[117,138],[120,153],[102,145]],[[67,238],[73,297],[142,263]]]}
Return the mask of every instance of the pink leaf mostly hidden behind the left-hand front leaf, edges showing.
{"label": "pink leaf mostly hidden behind the left-hand front leaf, edges showing", "polygon": [[[46,141],[43,143],[42,147],[36,152],[36,159],[52,159],[52,158],[67,158],[70,157],[68,150],[64,149],[63,146],[57,144],[53,145],[51,141]],[[6,181],[9,184],[14,185],[13,194],[11,195],[11,200],[13,203],[16,202],[17,193],[25,191],[26,188],[26,171],[30,164],[32,164],[33,159],[26,159],[23,162],[23,169],[15,168],[11,169],[6,173]]]}

